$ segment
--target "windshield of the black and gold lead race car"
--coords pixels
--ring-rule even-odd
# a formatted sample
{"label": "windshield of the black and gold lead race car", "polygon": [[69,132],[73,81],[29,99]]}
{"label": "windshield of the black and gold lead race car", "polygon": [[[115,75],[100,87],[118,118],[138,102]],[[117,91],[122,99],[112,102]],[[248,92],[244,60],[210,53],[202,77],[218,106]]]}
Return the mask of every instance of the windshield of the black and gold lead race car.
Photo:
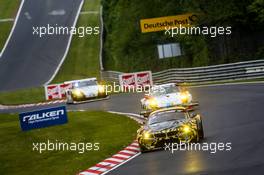
{"label": "windshield of the black and gold lead race car", "polygon": [[181,120],[185,119],[185,113],[183,112],[161,112],[157,113],[149,118],[148,124],[152,125],[155,123],[161,123],[165,121],[171,121],[171,120]]}

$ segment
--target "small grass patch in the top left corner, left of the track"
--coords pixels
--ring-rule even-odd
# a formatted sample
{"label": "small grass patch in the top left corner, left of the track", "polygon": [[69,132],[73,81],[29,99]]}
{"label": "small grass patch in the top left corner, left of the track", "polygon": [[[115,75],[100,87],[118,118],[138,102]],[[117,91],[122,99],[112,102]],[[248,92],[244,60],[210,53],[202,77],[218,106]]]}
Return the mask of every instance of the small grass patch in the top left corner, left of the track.
{"label": "small grass patch in the top left corner, left of the track", "polygon": [[[16,11],[18,9],[19,0],[1,0],[0,1],[0,19],[15,18]],[[0,22],[0,51],[4,47],[4,44],[11,31],[13,22]]]}

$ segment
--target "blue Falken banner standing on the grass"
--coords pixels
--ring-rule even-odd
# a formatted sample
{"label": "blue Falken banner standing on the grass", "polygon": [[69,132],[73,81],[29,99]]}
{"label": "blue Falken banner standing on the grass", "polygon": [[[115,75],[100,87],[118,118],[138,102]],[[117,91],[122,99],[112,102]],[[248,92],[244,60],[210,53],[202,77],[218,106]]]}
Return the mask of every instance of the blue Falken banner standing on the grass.
{"label": "blue Falken banner standing on the grass", "polygon": [[60,125],[68,122],[65,106],[19,114],[23,131]]}

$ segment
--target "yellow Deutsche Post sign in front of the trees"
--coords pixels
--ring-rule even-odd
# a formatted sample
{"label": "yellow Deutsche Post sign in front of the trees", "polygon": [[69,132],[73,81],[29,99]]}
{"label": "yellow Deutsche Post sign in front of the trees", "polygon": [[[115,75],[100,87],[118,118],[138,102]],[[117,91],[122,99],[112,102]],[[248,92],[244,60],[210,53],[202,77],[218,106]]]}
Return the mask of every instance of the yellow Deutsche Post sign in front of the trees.
{"label": "yellow Deutsche Post sign in front of the trees", "polygon": [[157,32],[173,27],[189,27],[197,20],[193,13],[140,20],[141,32]]}

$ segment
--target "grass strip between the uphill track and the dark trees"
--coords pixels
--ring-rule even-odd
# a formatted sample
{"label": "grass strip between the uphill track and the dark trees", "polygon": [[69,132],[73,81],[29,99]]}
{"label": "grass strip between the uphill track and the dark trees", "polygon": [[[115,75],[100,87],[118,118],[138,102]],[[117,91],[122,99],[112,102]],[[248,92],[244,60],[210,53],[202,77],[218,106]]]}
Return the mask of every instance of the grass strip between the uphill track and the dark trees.
{"label": "grass strip between the uphill track and the dark trees", "polygon": [[[85,1],[82,11],[99,11],[100,0]],[[80,15],[78,27],[100,26],[100,14]],[[100,35],[73,36],[71,48],[52,83],[100,76]]]}

